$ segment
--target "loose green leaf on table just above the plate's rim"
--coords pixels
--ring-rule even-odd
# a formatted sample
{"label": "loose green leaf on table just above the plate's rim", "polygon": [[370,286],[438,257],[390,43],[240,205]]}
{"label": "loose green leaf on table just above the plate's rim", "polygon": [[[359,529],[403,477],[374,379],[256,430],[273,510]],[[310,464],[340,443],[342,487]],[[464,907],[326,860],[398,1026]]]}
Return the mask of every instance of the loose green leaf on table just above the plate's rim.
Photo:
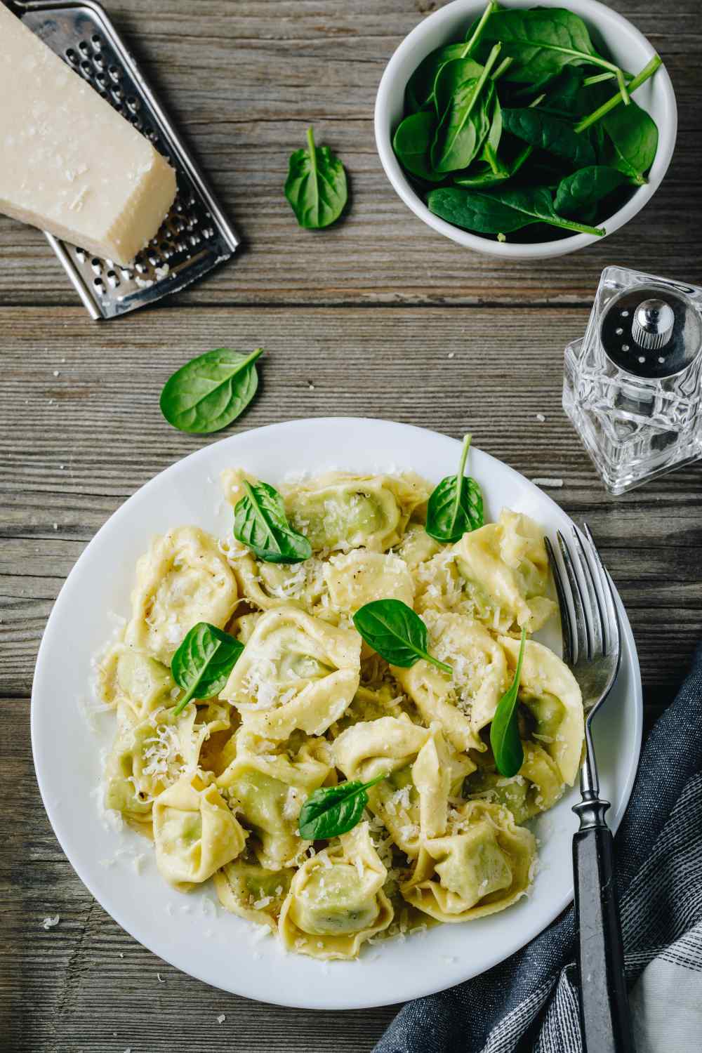
{"label": "loose green leaf on table just above the plate's rim", "polygon": [[250,355],[218,347],[190,359],[166,380],[161,413],[181,432],[206,434],[226,428],[256,394],[254,363],[262,354],[262,347]]}

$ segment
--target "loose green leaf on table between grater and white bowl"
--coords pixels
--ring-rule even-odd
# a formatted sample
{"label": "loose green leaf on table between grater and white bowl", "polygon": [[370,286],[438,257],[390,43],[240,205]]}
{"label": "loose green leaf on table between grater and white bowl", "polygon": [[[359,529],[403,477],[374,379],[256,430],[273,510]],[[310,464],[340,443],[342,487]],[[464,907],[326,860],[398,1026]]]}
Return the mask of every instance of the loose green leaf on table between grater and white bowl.
{"label": "loose green leaf on table between grater and white bowl", "polygon": [[307,148],[290,156],[285,197],[300,226],[308,231],[328,226],[344,211],[346,172],[328,146],[315,145],[312,128],[307,128]]}

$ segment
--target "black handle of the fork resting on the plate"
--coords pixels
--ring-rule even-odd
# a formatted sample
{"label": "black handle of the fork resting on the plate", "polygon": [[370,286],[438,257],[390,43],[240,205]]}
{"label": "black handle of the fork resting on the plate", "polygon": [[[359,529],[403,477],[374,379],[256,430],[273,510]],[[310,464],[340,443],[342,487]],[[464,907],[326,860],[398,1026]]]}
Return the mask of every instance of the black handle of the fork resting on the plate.
{"label": "black handle of the fork resting on the plate", "polygon": [[580,1024],[585,1053],[635,1053],[608,808],[593,797],[573,809],[580,817],[573,838]]}

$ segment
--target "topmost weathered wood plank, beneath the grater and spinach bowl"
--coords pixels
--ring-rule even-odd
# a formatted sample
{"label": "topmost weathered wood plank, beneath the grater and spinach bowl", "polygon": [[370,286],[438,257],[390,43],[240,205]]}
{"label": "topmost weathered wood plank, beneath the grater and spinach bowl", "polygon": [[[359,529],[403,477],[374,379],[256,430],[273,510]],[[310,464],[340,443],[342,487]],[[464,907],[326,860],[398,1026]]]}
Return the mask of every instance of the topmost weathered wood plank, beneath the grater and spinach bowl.
{"label": "topmost weathered wood plank, beneath the grater and spinach bowl", "polygon": [[[679,104],[679,148],[647,208],[625,230],[573,256],[505,263],[434,234],[389,185],[373,132],[378,82],[395,47],[439,4],[121,0],[111,14],[143,59],[192,143],[244,247],[178,303],[589,302],[604,265],[702,278],[702,56],[696,0],[654,11],[618,0],[663,56]],[[297,227],[282,194],[287,159],[314,123],[346,163],[347,218]],[[0,301],[77,302],[39,232],[0,217]]]}

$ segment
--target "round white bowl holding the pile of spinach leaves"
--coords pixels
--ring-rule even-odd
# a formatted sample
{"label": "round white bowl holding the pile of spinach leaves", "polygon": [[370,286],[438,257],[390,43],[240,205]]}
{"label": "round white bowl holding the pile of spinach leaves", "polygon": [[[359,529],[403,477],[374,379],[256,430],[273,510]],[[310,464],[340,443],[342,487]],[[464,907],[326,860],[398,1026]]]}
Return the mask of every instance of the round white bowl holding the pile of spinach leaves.
{"label": "round white bowl holding the pile of spinach leaves", "polygon": [[[405,176],[393,151],[393,135],[404,112],[404,90],[409,77],[426,56],[453,41],[461,40],[465,32],[485,9],[486,0],[454,0],[420,22],[404,38],[385,66],[376,98],[376,143],[385,175],[404,203],[428,226],[487,256],[506,259],[547,259],[564,256],[591,245],[601,239],[591,234],[576,234],[559,241],[533,244],[500,242],[470,234],[453,223],[439,219],[426,207]],[[567,7],[587,24],[596,47],[604,44],[613,60],[624,69],[638,73],[654,57],[655,48],[630,22],[597,0],[510,0],[509,7]],[[673,84],[665,66],[659,66],[636,92],[636,101],[647,111],[658,125],[659,141],[656,160],[648,173],[648,182],[640,186],[619,212],[602,225],[607,234],[619,230],[643,208],[654,196],[667,171],[678,131],[678,107]]]}

